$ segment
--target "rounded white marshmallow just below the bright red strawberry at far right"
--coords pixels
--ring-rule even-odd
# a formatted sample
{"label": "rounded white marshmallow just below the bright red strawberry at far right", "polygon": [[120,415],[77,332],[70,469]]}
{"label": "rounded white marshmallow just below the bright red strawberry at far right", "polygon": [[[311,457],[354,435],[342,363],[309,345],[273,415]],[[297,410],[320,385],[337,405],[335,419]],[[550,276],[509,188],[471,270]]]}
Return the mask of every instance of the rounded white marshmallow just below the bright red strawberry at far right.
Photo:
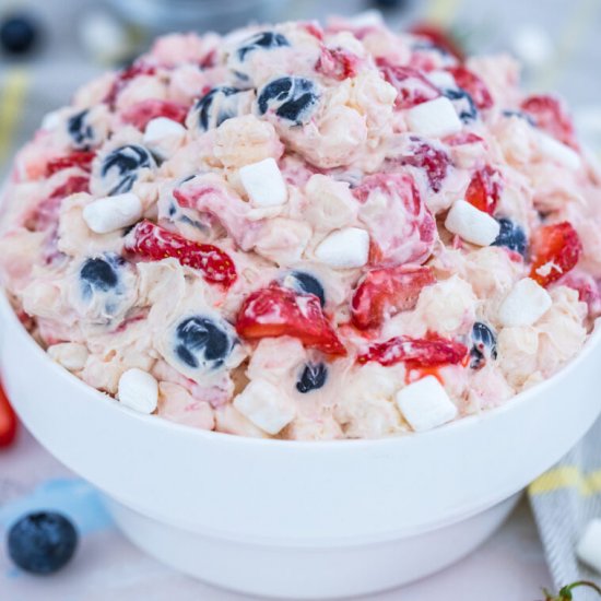
{"label": "rounded white marshmallow just below the bright red strawberry at far right", "polygon": [[534,280],[520,280],[505,297],[498,309],[498,320],[506,328],[532,326],[551,307],[549,293]]}

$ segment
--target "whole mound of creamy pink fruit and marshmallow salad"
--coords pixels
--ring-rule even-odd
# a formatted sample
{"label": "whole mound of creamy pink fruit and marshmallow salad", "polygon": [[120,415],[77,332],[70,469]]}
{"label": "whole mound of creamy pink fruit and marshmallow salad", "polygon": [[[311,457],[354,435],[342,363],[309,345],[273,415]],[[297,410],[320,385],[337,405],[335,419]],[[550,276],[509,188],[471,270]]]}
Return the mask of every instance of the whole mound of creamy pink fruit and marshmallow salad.
{"label": "whole mound of creamy pink fruit and marshmallow salad", "polygon": [[340,21],[169,35],[17,154],[0,270],[48,355],[132,410],[403,435],[580,351],[600,177],[505,56]]}

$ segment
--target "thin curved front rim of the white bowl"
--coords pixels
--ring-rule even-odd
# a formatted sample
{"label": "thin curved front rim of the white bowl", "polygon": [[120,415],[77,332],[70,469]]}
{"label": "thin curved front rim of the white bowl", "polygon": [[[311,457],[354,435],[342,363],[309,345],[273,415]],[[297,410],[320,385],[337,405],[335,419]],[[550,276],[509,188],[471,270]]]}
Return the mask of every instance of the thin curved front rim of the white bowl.
{"label": "thin curved front rim of the white bowl", "polygon": [[[102,402],[107,411],[118,411],[126,419],[137,420],[144,423],[145,427],[163,428],[166,431],[179,432],[182,435],[195,436],[209,441],[227,443],[232,445],[241,446],[270,446],[286,449],[304,449],[306,451],[317,451],[320,449],[347,449],[352,448],[376,448],[377,450],[384,450],[391,445],[408,445],[411,444],[416,437],[420,440],[426,440],[428,438],[449,435],[451,433],[463,433],[467,429],[478,427],[483,420],[496,420],[500,415],[516,412],[520,406],[528,403],[532,397],[543,394],[545,390],[555,386],[556,381],[570,376],[571,372],[576,369],[579,363],[584,362],[588,355],[594,352],[597,346],[601,343],[601,318],[594,321],[592,331],[588,334],[588,338],[579,351],[579,353],[573,357],[566,365],[564,365],[558,372],[546,378],[542,382],[539,382],[531,388],[518,392],[511,399],[508,399],[505,403],[481,411],[472,415],[466,415],[464,417],[455,420],[447,424],[444,424],[437,428],[433,428],[427,432],[410,433],[404,436],[387,436],[382,438],[342,438],[334,440],[287,440],[281,438],[259,438],[252,436],[243,436],[237,434],[228,434],[225,432],[214,432],[201,428],[195,428],[186,424],[179,424],[170,422],[160,417],[158,415],[144,415],[119,403],[117,399],[106,392],[93,388],[75,375],[71,374],[68,369],[56,363],[50,358],[46,351],[34,340],[30,332],[25,329],[23,323],[16,317],[13,307],[9,303],[7,293],[2,286],[0,286],[0,320],[9,319],[12,325],[16,327],[20,335],[26,339],[25,344],[32,350],[36,356],[42,361],[46,361],[49,364],[50,369],[57,375],[57,377],[67,381],[69,386],[74,387],[82,394],[92,397],[89,402]],[[107,402],[108,401],[108,402]]]}

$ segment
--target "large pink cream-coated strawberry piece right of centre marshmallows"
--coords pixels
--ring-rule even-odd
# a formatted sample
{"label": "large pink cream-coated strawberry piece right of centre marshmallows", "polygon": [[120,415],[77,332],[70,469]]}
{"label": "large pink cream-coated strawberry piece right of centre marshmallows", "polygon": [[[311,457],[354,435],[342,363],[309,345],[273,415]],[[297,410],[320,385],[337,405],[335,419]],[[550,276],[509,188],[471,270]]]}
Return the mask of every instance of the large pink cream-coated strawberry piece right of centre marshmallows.
{"label": "large pink cream-coated strawberry piece right of centre marshmallows", "polygon": [[382,261],[422,263],[429,257],[437,236],[436,221],[410,175],[369,175],[353,193],[362,203],[379,205],[361,219],[376,239]]}

